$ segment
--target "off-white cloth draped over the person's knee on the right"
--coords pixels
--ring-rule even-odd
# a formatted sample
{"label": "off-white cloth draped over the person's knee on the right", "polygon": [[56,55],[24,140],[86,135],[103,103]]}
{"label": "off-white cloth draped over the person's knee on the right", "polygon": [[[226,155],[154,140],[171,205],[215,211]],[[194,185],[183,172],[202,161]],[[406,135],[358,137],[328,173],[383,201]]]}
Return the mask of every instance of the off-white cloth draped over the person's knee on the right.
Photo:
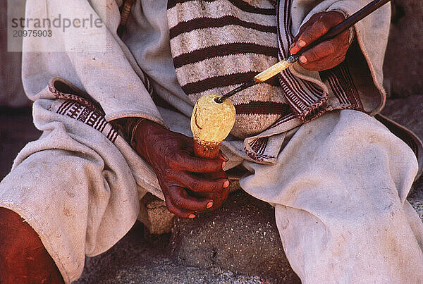
{"label": "off-white cloth draped over the person's knee on the right", "polygon": [[423,279],[423,224],[405,200],[417,160],[375,118],[327,113],[295,132],[276,165],[244,164],[254,175],[240,185],[274,204],[283,248],[303,282]]}

